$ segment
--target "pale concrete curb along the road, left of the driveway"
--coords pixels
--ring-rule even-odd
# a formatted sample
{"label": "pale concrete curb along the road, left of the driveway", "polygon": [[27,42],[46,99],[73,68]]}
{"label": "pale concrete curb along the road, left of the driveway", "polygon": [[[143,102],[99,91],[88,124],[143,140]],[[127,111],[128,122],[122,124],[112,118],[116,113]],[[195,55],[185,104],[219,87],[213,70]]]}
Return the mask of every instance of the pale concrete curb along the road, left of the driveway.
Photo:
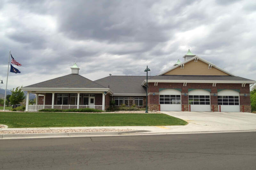
{"label": "pale concrete curb along the road, left of the driveway", "polygon": [[121,132],[67,132],[67,133],[25,133],[25,134],[0,134],[0,139],[22,139],[22,138],[68,138],[85,136],[105,136],[122,135],[126,133],[141,133],[140,131],[121,131]]}

